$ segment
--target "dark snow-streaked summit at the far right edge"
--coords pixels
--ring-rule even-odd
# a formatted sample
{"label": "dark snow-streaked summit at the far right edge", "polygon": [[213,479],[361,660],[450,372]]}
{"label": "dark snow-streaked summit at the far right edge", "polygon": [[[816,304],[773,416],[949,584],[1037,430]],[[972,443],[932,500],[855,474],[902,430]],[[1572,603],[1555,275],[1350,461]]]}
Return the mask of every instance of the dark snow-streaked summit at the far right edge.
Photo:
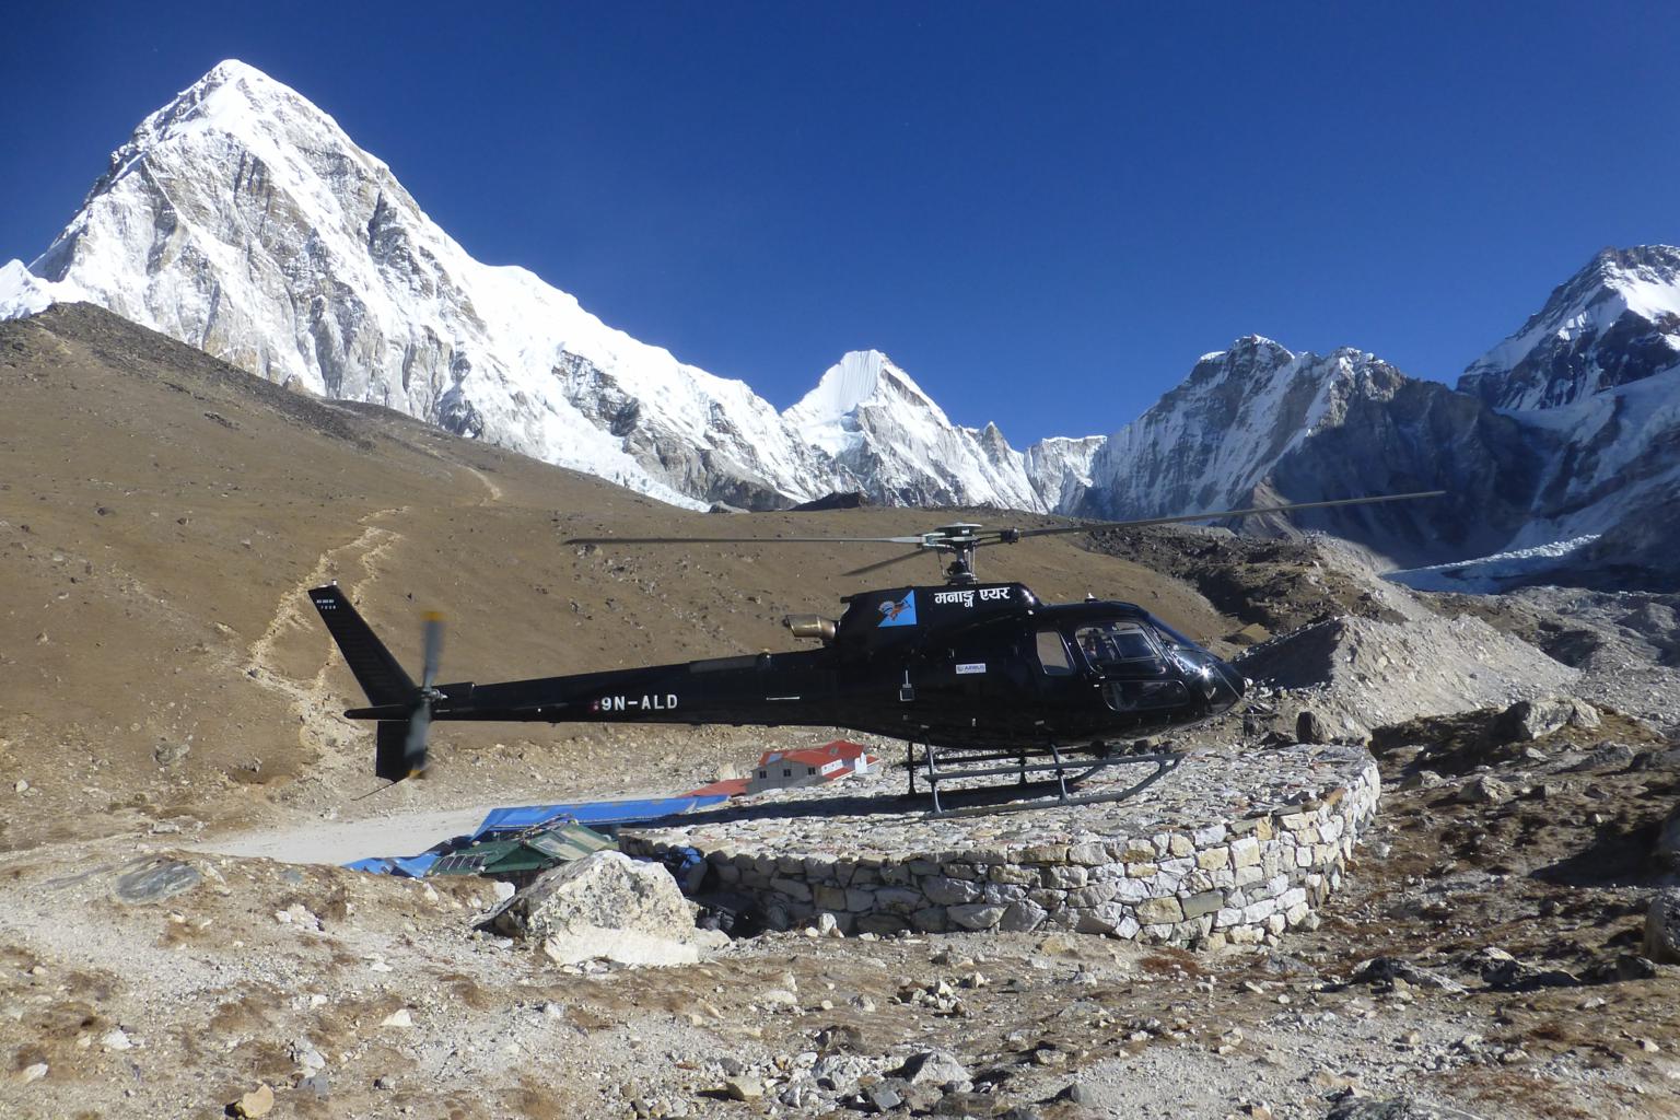
{"label": "dark snow-streaked summit at the far right edge", "polygon": [[1557,408],[1680,361],[1680,249],[1604,249],[1458,388],[1502,410]]}

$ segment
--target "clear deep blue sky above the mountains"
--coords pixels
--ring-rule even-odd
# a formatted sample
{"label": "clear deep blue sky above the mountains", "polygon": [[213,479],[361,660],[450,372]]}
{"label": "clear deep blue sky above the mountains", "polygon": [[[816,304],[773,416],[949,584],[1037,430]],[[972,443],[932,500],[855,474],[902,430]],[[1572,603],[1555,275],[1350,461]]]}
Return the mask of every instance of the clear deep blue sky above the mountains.
{"label": "clear deep blue sky above the mountains", "polygon": [[223,57],[613,326],[778,406],[884,349],[1016,447],[1248,332],[1452,379],[1680,240],[1680,5],[1376,7],[13,5],[0,260]]}

